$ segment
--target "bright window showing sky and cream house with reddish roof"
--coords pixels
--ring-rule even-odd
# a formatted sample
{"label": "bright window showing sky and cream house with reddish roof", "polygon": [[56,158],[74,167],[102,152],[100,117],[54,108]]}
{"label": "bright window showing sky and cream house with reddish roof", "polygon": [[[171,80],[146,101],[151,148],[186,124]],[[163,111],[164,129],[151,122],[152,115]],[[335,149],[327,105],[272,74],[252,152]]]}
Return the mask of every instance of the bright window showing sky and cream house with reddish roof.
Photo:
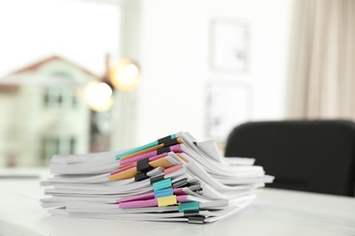
{"label": "bright window showing sky and cream house with reddish roof", "polygon": [[[19,76],[21,86],[17,93],[11,93],[11,98],[7,94],[0,96],[4,112],[0,161],[11,153],[14,160],[26,160],[14,162],[16,167],[29,167],[44,163],[56,153],[89,151],[90,119],[81,100],[86,73],[82,72],[100,76],[106,70],[106,54],[119,58],[120,2],[0,1],[0,78],[29,66]],[[72,64],[36,64],[53,56]],[[31,148],[13,152],[14,143],[26,147],[28,139],[34,141]],[[5,161],[0,162],[0,168],[6,165]]]}

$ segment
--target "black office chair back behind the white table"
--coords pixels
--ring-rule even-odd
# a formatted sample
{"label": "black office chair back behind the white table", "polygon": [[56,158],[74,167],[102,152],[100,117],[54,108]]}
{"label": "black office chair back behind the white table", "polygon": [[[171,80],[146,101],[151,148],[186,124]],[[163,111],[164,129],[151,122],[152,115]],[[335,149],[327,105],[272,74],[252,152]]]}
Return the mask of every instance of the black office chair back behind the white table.
{"label": "black office chair back behind the white table", "polygon": [[354,196],[355,123],[244,123],[228,136],[225,155],[254,157],[275,176],[269,187]]}

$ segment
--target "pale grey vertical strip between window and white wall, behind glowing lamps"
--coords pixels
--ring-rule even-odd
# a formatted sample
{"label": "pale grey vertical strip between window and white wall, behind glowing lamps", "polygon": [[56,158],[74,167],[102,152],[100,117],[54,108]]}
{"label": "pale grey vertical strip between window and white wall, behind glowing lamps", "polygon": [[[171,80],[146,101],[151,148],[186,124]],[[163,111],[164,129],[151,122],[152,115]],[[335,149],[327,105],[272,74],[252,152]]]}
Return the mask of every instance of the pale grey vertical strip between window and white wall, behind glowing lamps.
{"label": "pale grey vertical strip between window and white wall, behind glowing lamps", "polygon": [[[121,28],[120,58],[140,60],[140,0],[127,0],[119,3]],[[112,109],[111,149],[121,150],[137,145],[137,93],[138,91],[115,93],[115,104]]]}

